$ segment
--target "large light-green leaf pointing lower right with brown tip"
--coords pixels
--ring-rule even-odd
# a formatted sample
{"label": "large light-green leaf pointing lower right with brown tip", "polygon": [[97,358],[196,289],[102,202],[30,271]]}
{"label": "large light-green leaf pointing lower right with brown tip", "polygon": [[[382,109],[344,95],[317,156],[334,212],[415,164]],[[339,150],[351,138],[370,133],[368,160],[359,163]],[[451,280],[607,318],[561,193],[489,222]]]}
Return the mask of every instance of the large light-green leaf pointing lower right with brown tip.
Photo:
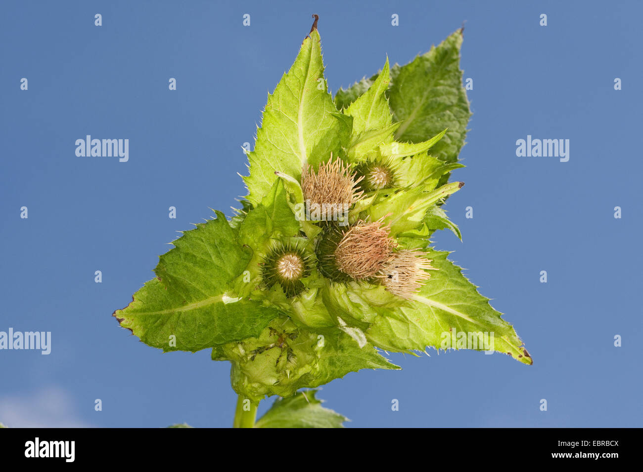
{"label": "large light-green leaf pointing lower right with brown tip", "polygon": [[[421,240],[416,243],[424,245]],[[367,330],[368,340],[386,351],[422,351],[426,346],[493,350],[531,364],[511,324],[478,293],[462,269],[447,259],[448,254],[428,249],[427,258],[437,270],[431,270],[431,278],[404,306],[375,308],[378,316]]]}

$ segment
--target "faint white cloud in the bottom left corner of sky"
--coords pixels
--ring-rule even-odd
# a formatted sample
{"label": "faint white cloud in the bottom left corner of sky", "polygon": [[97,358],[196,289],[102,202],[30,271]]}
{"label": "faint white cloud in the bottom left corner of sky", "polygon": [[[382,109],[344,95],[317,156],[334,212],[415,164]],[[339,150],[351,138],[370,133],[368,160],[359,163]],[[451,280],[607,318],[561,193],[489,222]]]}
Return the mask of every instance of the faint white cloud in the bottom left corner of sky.
{"label": "faint white cloud in the bottom left corner of sky", "polygon": [[69,394],[48,387],[28,396],[0,398],[0,421],[9,428],[89,428]]}

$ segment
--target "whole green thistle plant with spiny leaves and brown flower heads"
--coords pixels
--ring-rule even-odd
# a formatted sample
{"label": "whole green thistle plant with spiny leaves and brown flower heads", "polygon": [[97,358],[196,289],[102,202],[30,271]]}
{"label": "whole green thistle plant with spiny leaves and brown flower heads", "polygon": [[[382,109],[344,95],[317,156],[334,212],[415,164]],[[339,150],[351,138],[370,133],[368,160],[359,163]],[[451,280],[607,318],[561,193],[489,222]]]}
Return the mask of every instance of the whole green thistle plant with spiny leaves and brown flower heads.
{"label": "whole green thistle plant with spiny leaves and brown flower heads", "polygon": [[399,369],[386,353],[493,349],[532,363],[430,243],[441,229],[460,238],[442,206],[463,186],[449,182],[471,115],[461,44],[458,30],[406,66],[386,58],[332,98],[315,21],[268,96],[242,207],[183,232],[114,312],[147,345],[229,361],[235,426],[341,426],[315,390],[300,390]]}

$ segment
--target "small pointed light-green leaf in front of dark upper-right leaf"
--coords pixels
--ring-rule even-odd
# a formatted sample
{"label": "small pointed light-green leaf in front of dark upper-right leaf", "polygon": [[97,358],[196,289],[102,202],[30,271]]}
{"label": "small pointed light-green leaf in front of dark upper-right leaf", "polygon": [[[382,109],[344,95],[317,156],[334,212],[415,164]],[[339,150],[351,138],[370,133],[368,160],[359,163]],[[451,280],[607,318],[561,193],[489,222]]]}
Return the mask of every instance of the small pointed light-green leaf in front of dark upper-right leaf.
{"label": "small pointed light-green leaf in front of dark upper-right leaf", "polygon": [[344,114],[353,117],[352,135],[368,130],[379,130],[390,126],[391,110],[388,107],[385,92],[388,89],[388,57],[382,71],[368,91],[344,110]]}

